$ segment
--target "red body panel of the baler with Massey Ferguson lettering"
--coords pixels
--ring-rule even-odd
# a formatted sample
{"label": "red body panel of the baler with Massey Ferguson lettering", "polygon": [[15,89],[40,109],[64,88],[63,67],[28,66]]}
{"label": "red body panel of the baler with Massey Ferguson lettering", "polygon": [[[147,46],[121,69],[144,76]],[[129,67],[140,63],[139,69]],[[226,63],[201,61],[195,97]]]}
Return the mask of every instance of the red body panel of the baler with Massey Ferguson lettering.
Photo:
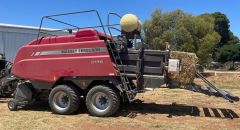
{"label": "red body panel of the baler with Massey Ferguson lettering", "polygon": [[119,75],[105,41],[95,30],[30,42],[18,51],[12,73],[23,79],[46,82],[69,76]]}

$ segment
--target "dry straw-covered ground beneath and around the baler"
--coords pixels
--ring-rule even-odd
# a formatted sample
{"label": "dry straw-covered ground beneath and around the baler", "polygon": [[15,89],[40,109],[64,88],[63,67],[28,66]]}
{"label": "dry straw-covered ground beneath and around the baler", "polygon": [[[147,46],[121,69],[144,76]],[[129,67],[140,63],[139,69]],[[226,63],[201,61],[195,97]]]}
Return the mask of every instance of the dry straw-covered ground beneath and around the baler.
{"label": "dry straw-covered ground beneath and around the baler", "polygon": [[[239,76],[209,77],[240,96],[240,80],[232,81],[233,78],[238,79]],[[115,117],[108,118],[89,116],[85,107],[74,115],[56,115],[44,102],[10,112],[7,109],[8,99],[1,99],[0,130],[240,129],[239,102],[230,103],[222,98],[168,88],[139,94],[137,99],[134,103],[121,106]]]}

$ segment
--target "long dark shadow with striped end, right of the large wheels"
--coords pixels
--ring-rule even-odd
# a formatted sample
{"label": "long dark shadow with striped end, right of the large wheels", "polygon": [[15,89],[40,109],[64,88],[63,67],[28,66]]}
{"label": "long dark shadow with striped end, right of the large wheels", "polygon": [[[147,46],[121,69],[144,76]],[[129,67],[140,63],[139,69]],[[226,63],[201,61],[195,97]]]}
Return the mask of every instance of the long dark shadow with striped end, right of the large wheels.
{"label": "long dark shadow with striped end, right of the large wheels", "polygon": [[[201,110],[201,111],[200,111]],[[212,114],[211,114],[212,111]],[[202,114],[201,114],[202,112]],[[231,109],[225,108],[199,108],[185,104],[156,104],[144,103],[140,100],[131,104],[123,105],[117,116],[135,118],[137,114],[168,114],[173,116],[195,116],[195,117],[214,117],[214,118],[239,118],[239,115]]]}

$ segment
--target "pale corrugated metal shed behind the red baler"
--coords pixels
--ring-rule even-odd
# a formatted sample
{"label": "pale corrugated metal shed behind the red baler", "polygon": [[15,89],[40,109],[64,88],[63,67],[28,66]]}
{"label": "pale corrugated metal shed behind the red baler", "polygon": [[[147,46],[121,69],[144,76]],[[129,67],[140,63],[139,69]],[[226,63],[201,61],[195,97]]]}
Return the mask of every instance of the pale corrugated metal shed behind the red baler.
{"label": "pale corrugated metal shed behind the red baler", "polygon": [[[56,29],[43,28],[44,31]],[[13,62],[20,47],[37,38],[39,27],[0,23],[0,53],[5,54],[8,61]],[[54,35],[66,35],[66,31],[52,32]]]}

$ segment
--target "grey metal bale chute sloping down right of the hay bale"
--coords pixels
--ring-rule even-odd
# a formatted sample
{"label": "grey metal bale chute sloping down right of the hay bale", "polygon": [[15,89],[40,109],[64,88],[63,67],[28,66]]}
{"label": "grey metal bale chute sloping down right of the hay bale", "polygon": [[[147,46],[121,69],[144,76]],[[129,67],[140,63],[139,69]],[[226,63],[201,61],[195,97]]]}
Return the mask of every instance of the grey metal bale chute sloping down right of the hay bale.
{"label": "grey metal bale chute sloping down right of the hay bale", "polygon": [[196,72],[196,76],[198,78],[202,79],[202,81],[204,83],[206,83],[207,86],[203,87],[203,86],[197,85],[195,83],[192,83],[190,85],[187,85],[187,87],[186,87],[187,89],[195,91],[195,92],[204,93],[209,96],[214,95],[216,97],[222,97],[231,103],[239,101],[238,96],[235,96],[228,91],[217,88],[209,80],[207,80],[200,72]]}

